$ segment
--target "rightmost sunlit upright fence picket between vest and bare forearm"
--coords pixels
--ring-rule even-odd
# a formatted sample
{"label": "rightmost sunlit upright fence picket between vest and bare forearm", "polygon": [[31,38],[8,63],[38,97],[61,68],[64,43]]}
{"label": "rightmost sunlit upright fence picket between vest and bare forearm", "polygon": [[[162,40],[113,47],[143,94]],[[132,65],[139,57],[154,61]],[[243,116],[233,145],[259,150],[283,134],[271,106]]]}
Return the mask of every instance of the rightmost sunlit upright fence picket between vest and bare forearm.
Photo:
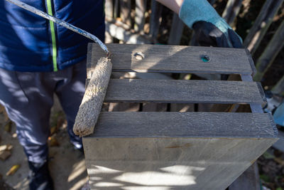
{"label": "rightmost sunlit upright fence picket between vest and bare forearm", "polygon": [[134,30],[143,32],[145,23],[146,0],[136,0]]}

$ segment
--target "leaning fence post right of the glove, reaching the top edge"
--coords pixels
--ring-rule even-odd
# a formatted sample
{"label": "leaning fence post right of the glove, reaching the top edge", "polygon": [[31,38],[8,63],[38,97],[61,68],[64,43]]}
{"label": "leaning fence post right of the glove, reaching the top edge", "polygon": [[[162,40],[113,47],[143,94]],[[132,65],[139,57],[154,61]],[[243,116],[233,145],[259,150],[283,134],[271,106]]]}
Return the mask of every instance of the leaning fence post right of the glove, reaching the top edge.
{"label": "leaning fence post right of the glove, reaching the top edge", "polygon": [[256,52],[282,3],[283,0],[266,0],[266,3],[262,6],[261,12],[244,41],[244,46],[251,51],[252,55]]}

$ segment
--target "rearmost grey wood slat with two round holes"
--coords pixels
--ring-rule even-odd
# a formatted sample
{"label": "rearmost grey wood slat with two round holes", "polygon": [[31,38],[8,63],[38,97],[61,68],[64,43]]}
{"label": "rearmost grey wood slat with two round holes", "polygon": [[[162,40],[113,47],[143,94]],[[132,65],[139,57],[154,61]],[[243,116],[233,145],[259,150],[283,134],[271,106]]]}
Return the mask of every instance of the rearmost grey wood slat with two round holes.
{"label": "rearmost grey wood slat with two round holes", "polygon": [[[194,46],[163,46],[107,44],[111,52],[113,71],[122,72],[158,72],[158,73],[253,73],[249,58],[244,49],[210,48]],[[144,58],[137,60],[135,53],[143,53]],[[95,67],[97,60],[105,53],[96,43],[89,44],[92,59],[87,62],[87,70]],[[204,63],[201,56],[209,56],[209,62]],[[88,74],[89,78],[89,74]]]}

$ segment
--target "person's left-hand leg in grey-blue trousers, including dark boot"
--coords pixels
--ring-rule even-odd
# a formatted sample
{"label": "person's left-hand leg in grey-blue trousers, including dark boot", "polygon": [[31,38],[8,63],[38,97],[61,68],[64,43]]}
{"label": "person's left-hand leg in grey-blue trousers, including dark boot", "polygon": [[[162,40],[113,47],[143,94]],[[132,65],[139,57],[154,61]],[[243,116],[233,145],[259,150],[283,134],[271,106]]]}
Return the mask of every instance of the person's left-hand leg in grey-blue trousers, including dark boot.
{"label": "person's left-hand leg in grey-blue trousers, including dark boot", "polygon": [[0,69],[0,102],[16,123],[18,140],[28,157],[30,188],[53,189],[48,171],[50,107],[55,83],[46,83],[41,73]]}

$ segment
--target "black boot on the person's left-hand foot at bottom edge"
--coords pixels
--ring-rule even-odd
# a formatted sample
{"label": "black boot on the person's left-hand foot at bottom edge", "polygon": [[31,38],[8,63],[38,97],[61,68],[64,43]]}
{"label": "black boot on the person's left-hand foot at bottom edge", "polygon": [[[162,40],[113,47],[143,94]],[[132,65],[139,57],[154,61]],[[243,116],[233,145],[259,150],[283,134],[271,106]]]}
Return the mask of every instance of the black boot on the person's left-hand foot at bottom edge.
{"label": "black boot on the person's left-hand foot at bottom edge", "polygon": [[30,190],[53,190],[53,179],[48,169],[48,161],[43,163],[28,162],[30,168],[29,186]]}

